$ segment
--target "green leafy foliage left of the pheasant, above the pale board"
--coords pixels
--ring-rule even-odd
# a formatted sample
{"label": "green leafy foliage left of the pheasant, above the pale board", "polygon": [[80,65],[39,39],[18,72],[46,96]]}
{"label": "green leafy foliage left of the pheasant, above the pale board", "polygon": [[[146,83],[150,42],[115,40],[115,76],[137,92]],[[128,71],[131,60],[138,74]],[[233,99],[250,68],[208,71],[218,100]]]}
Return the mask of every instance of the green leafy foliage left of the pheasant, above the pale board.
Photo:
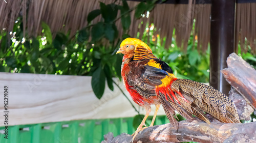
{"label": "green leafy foliage left of the pheasant, above the pale board", "polygon": [[[0,71],[90,75],[97,98],[100,99],[104,93],[105,81],[113,91],[112,77],[121,79],[122,55],[115,52],[123,40],[118,37],[115,21],[121,18],[122,37],[129,37],[125,32],[131,25],[130,12],[134,8],[131,10],[125,0],[120,5],[116,1],[99,5],[100,9],[87,16],[88,25],[77,31],[76,35],[52,34],[49,25],[41,22],[42,36],[23,37],[23,33],[27,32],[23,31],[23,19],[19,17],[12,34],[6,31],[1,34]],[[118,11],[120,17],[117,17]],[[103,19],[92,24],[99,15]]]}

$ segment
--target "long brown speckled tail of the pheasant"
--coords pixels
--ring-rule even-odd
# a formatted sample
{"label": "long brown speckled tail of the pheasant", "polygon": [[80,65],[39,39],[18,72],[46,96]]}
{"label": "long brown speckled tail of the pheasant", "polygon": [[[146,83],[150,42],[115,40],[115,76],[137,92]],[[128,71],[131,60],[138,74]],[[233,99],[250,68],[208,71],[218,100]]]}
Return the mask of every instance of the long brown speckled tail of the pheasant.
{"label": "long brown speckled tail of the pheasant", "polygon": [[[171,89],[175,91],[175,95],[180,103],[177,100],[170,99],[172,97],[167,96],[167,99],[165,99],[166,96],[159,93],[160,97],[162,97],[162,102],[165,102],[165,105],[163,103],[162,105],[172,110],[177,110],[181,116],[189,121],[193,120],[192,115],[194,115],[210,124],[205,115],[205,113],[208,113],[223,123],[241,123],[237,108],[232,100],[206,84],[188,79],[176,79],[173,81]],[[182,99],[177,92],[181,93],[188,102]]]}

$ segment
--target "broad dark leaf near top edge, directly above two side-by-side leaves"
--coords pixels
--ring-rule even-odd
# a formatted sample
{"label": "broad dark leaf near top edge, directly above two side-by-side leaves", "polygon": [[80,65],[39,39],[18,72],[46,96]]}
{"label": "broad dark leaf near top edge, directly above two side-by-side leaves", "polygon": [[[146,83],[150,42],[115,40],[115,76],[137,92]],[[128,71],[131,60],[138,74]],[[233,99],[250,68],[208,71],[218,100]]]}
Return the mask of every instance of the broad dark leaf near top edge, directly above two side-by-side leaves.
{"label": "broad dark leaf near top edge, directly above two side-by-side leaves", "polygon": [[100,3],[100,11],[104,21],[108,23],[115,20],[118,9],[115,4],[105,5],[104,3]]}

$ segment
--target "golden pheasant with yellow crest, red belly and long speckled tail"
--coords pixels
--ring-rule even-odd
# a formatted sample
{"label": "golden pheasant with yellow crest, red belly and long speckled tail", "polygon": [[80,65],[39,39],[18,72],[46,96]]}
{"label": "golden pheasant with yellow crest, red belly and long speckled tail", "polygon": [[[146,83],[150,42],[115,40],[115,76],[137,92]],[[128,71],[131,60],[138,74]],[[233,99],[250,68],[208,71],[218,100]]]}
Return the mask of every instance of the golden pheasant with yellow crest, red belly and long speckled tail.
{"label": "golden pheasant with yellow crest, red belly and long speckled tail", "polygon": [[240,123],[237,108],[226,95],[206,84],[176,78],[173,70],[156,58],[151,48],[141,40],[123,40],[116,53],[124,54],[121,75],[126,90],[134,102],[146,110],[133,139],[143,130],[152,104],[156,105],[156,110],[150,126],[154,124],[160,104],[177,128],[175,110],[188,121],[195,120],[194,115],[210,124],[205,114],[208,113],[223,123]]}

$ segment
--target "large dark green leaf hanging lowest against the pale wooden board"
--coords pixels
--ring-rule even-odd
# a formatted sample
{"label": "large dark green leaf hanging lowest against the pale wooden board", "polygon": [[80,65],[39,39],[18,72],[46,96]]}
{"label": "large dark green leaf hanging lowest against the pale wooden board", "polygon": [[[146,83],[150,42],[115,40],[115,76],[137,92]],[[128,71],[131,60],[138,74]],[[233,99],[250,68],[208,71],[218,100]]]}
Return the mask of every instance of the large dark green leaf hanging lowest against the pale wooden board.
{"label": "large dark green leaf hanging lowest against the pale wooden board", "polygon": [[92,89],[98,99],[100,99],[105,90],[105,74],[101,66],[99,66],[92,75]]}

